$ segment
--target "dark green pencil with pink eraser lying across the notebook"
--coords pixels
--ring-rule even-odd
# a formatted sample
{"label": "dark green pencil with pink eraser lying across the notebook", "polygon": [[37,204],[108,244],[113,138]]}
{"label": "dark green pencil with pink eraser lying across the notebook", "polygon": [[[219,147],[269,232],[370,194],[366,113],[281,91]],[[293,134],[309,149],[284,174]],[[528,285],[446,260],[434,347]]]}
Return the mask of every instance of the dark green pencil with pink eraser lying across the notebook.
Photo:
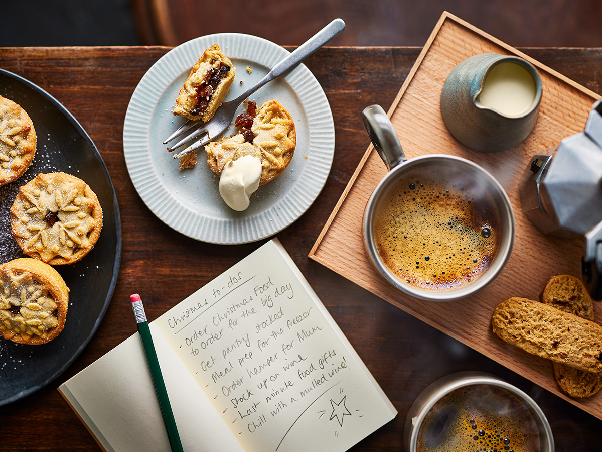
{"label": "dark green pencil with pink eraser lying across the notebook", "polygon": [[163,416],[163,422],[165,424],[165,429],[167,430],[169,445],[173,452],[184,452],[180,436],[178,435],[178,427],[176,426],[175,419],[173,419],[172,406],[169,403],[169,398],[167,398],[167,390],[165,389],[163,375],[161,374],[161,368],[159,367],[155,345],[152,342],[151,330],[146,321],[142,299],[137,293],[130,295],[129,298],[132,301],[132,310],[134,311],[138,333],[140,333],[140,339],[142,340],[142,345],[144,347],[144,354],[146,354],[146,361],[149,364],[149,369],[151,369],[152,382],[155,386],[159,406],[161,407],[161,415]]}

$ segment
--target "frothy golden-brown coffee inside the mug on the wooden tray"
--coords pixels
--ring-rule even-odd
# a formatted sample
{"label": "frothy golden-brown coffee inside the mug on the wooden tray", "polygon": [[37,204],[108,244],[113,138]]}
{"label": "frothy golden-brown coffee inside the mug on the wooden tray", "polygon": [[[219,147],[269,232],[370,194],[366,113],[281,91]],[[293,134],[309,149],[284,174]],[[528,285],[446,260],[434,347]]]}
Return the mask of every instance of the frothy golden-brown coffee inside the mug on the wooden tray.
{"label": "frothy golden-brown coffee inside the mug on the wooden tray", "polygon": [[485,183],[466,179],[418,168],[381,199],[374,217],[376,246],[406,283],[454,289],[476,280],[495,258],[500,215]]}

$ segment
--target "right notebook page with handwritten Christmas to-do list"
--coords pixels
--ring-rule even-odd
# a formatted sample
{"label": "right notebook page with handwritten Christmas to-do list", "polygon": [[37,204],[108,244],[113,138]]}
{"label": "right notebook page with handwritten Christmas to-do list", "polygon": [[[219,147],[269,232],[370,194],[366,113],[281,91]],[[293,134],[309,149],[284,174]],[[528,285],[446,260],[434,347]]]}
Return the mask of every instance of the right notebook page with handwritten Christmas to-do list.
{"label": "right notebook page with handwritten Christmas to-do list", "polygon": [[396,414],[276,240],[155,322],[247,452],[344,451]]}

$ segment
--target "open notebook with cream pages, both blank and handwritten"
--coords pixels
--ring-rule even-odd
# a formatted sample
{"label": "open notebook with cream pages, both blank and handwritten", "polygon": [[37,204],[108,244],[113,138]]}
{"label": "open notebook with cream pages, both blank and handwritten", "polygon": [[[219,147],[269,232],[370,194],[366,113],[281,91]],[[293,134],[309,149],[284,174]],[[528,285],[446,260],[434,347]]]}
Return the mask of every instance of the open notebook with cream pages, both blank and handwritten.
{"label": "open notebook with cream pages, both blank and handwritten", "polygon": [[[150,328],[185,451],[345,451],[397,414],[276,239]],[[58,390],[104,450],[169,452],[138,333]]]}

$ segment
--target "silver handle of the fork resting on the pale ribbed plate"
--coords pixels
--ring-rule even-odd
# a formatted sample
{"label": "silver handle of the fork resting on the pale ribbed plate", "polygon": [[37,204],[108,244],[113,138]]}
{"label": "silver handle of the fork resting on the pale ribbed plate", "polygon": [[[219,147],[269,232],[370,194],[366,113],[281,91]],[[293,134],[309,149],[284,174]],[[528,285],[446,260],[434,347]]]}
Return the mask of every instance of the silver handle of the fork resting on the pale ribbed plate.
{"label": "silver handle of the fork resting on the pale ribbed plate", "polygon": [[[314,34],[314,36],[306,40],[302,45],[294,49],[294,51],[284,58],[284,60],[272,67],[270,72],[268,72],[264,78],[259,80],[255,86],[238,96],[234,102],[238,101],[238,99],[240,99],[240,102],[242,102],[244,99],[252,95],[256,90],[268,83],[268,81],[272,81],[290,69],[293,69],[293,67],[297,66],[297,64],[305,60],[305,58],[309,57],[309,55],[329,42],[329,40],[337,36],[337,34],[341,33],[343,30],[345,30],[345,22],[343,19],[333,20],[330,22],[330,24],[326,25],[326,27],[318,31],[318,33]],[[238,104],[240,104],[240,102],[238,102]]]}

